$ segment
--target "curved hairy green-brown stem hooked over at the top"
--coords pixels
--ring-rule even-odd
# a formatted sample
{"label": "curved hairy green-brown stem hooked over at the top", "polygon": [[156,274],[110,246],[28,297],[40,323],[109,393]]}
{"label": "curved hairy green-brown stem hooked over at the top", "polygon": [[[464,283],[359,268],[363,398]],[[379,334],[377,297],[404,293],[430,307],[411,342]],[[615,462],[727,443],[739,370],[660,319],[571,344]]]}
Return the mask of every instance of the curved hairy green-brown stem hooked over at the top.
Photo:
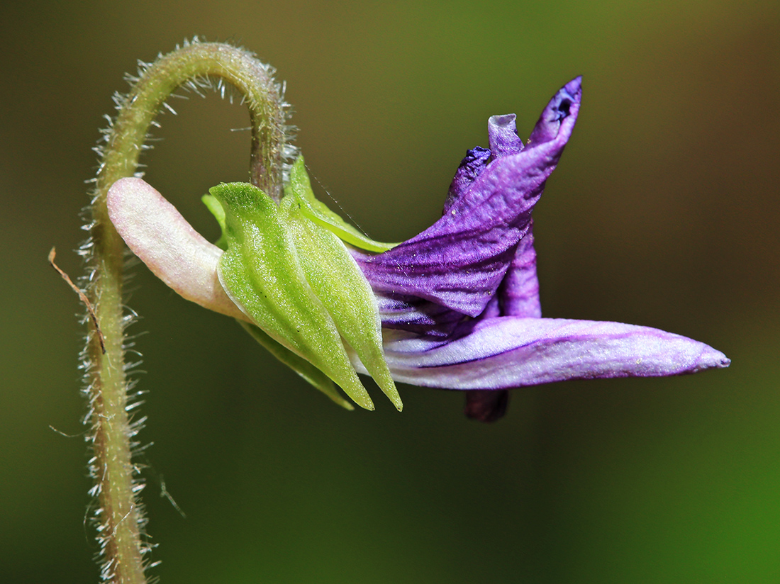
{"label": "curved hairy green-brown stem hooked over at the top", "polygon": [[285,161],[286,104],[273,69],[253,55],[226,44],[186,44],[147,66],[128,95],[119,99],[117,115],[106,138],[92,201],[87,255],[87,296],[105,339],[101,349],[95,325],[89,321],[83,350],[89,402],[86,423],[94,456],[90,491],[98,498],[97,540],[101,545],[102,579],[117,584],[142,584],[144,553],[150,546],[142,533],[146,519],[137,494],[143,483],[133,465],[135,435],[144,419],[131,421],[124,349],[126,317],[122,306],[125,245],[108,220],[106,193],[112,184],[132,176],[147,131],[165,99],[183,83],[217,76],[236,86],[250,109],[252,122],[251,181],[278,200]]}

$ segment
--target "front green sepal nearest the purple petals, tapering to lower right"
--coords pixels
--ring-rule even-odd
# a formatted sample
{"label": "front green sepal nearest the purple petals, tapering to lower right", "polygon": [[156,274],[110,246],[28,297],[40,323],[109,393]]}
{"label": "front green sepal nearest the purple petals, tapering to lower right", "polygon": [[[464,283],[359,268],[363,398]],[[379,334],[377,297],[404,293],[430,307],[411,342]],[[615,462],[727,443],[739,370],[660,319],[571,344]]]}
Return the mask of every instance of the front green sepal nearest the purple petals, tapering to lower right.
{"label": "front green sepal nearest the purple petals, tapering to lower right", "polygon": [[379,388],[401,411],[403,404],[382,350],[381,321],[374,292],[333,232],[303,214],[299,196],[282,199],[279,211],[293,237],[303,274]]}

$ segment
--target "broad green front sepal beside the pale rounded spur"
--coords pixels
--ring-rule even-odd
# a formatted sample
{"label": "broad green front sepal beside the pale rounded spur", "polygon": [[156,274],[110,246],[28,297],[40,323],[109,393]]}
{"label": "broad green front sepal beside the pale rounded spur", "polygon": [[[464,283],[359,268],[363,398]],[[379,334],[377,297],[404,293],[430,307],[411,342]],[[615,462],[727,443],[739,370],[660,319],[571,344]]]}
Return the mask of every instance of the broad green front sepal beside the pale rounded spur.
{"label": "broad green front sepal beside the pale rounded spur", "polygon": [[209,192],[225,211],[228,250],[218,274],[228,296],[275,342],[325,373],[357,405],[374,409],[332,317],[303,274],[274,201],[246,182]]}

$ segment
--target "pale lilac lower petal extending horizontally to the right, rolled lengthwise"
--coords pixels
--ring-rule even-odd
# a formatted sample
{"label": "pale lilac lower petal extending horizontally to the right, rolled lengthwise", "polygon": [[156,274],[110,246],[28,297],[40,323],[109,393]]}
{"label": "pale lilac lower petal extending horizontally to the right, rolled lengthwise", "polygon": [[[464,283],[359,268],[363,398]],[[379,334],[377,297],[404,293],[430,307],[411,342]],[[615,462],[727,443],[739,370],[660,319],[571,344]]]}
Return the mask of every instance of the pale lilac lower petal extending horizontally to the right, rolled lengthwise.
{"label": "pale lilac lower petal extending horizontally to the right, rolled lengthwise", "polygon": [[452,342],[385,331],[393,378],[449,389],[505,389],[595,377],[657,377],[729,366],[693,339],[633,324],[548,318],[481,320]]}

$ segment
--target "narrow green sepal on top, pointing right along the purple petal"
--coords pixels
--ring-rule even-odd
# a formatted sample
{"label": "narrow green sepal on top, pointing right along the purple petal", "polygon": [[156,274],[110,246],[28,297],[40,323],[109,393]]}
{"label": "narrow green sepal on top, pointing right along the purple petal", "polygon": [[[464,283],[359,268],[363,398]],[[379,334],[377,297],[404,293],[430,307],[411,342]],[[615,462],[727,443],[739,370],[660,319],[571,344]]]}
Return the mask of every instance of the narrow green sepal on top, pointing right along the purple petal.
{"label": "narrow green sepal on top, pointing right along the purple petal", "polygon": [[300,200],[300,211],[310,218],[311,221],[322,225],[324,228],[332,231],[351,246],[361,250],[372,252],[383,252],[397,246],[398,243],[383,243],[374,241],[367,235],[359,232],[352,225],[344,221],[339,214],[334,213],[328,208],[328,205],[317,200],[314,196],[314,190],[311,189],[309,173],[306,172],[306,165],[303,162],[303,156],[299,156],[290,169],[290,181],[285,186],[285,196],[296,195]]}

